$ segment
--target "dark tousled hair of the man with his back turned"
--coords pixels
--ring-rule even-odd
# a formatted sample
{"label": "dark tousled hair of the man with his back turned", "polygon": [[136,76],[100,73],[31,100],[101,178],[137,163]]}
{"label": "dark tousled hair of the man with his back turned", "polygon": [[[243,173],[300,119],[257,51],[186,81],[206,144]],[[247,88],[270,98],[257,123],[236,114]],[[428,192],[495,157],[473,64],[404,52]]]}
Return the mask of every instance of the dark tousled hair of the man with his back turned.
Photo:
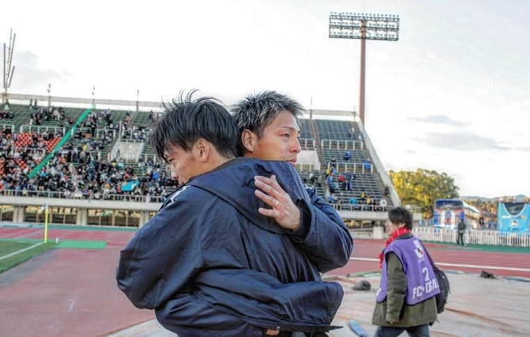
{"label": "dark tousled hair of the man with his back turned", "polygon": [[192,100],[196,90],[181,92],[178,100],[162,103],[164,114],[149,135],[150,146],[167,162],[164,152],[170,146],[189,151],[198,139],[205,139],[224,157],[235,157],[237,127],[232,116],[213,97]]}

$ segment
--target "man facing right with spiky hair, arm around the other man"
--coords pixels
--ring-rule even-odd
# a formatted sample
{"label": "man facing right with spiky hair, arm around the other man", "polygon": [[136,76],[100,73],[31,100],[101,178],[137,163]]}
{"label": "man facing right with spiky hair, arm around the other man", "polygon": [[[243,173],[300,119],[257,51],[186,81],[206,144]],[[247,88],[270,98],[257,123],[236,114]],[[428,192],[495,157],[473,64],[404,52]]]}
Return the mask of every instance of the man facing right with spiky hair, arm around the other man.
{"label": "man facing right with spiky hair, arm around the other man", "polygon": [[[263,91],[248,95],[232,107],[239,131],[237,155],[263,160],[278,160],[295,166],[301,148],[298,120],[302,105],[287,95]],[[297,205],[272,177],[256,177],[256,197],[267,203],[278,201],[272,210],[259,212],[280,226],[294,228],[291,239],[318,267],[320,272],[343,267],[350,260],[352,237],[332,206],[306,189],[309,207]]]}

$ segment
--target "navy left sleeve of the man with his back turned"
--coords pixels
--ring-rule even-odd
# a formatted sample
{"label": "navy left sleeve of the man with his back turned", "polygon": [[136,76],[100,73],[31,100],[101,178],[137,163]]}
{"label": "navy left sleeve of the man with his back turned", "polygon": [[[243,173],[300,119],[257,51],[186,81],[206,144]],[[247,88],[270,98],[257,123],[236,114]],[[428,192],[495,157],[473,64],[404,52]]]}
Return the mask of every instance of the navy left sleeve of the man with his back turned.
{"label": "navy left sleeve of the man with his back turned", "polygon": [[116,281],[134,306],[157,308],[203,265],[196,208],[178,200],[167,205],[120,252]]}

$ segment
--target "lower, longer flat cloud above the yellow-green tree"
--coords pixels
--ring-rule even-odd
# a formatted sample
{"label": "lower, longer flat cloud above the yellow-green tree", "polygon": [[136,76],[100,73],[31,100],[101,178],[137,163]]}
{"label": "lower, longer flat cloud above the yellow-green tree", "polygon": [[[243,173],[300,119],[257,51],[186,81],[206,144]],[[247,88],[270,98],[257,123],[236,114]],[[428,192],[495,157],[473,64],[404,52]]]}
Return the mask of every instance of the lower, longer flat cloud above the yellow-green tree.
{"label": "lower, longer flat cloud above the yellow-green tree", "polygon": [[445,148],[448,150],[475,151],[475,150],[509,150],[495,139],[467,133],[431,133],[419,139],[434,148]]}

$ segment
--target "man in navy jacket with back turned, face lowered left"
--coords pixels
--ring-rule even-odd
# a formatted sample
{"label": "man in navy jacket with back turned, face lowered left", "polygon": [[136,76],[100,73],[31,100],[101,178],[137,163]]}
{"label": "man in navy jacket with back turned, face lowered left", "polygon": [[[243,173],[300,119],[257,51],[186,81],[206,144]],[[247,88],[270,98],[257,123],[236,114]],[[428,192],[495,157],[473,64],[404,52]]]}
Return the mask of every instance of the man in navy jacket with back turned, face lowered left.
{"label": "man in navy jacket with back turned, face lowered left", "polygon": [[[235,158],[230,113],[192,93],[150,135],[180,187],[121,251],[118,288],[180,336],[322,336],[343,290],[295,244],[301,225],[284,203],[311,207],[302,181],[290,164]],[[283,194],[262,201],[254,177],[270,175]],[[286,218],[266,215],[275,209]]]}

